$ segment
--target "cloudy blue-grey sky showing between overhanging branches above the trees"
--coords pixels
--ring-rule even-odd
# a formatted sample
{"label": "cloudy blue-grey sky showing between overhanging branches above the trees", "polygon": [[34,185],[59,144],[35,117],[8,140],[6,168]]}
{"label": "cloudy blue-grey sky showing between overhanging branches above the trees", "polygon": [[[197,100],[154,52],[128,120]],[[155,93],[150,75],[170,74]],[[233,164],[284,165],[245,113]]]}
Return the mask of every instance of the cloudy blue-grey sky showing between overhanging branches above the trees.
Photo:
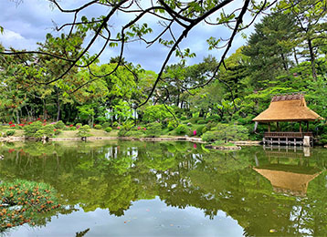
{"label": "cloudy blue-grey sky showing between overhanging branches above the trees", "polygon": [[[66,9],[71,9],[86,2],[88,1],[65,0],[59,3]],[[241,0],[236,0],[230,8],[235,8],[237,5],[242,4],[242,2]],[[13,0],[0,0],[0,7],[1,9],[5,9],[5,11],[2,11],[2,15],[0,15],[0,26],[5,28],[5,33],[0,35],[0,43],[5,48],[12,46],[16,49],[35,50],[37,49],[37,42],[44,42],[47,33],[58,36],[58,32],[55,30],[55,24],[60,26],[61,24],[71,22],[73,19],[73,15],[61,13],[58,8],[49,5],[47,0],[24,0],[18,5]],[[108,13],[108,11],[108,8],[103,6],[91,6],[82,11],[80,16],[86,15],[88,18],[97,17]],[[126,24],[130,17],[130,15],[114,15],[109,25],[113,31],[117,32],[120,29],[121,23]],[[246,21],[247,18],[249,20],[249,15],[246,15]],[[160,30],[157,21],[152,16],[147,16],[143,20],[143,22],[146,22],[153,28],[154,33]],[[175,33],[180,33],[180,30],[180,28],[174,27]],[[249,35],[251,31],[253,31],[253,26],[248,28],[245,33]],[[208,55],[220,58],[223,51],[209,51],[206,39],[210,36],[227,38],[230,33],[227,27],[224,26],[207,26],[201,23],[195,26],[181,43],[181,48],[189,47],[191,48],[191,52],[194,52],[196,55],[196,57],[188,59],[187,64],[194,65],[200,63]],[[115,36],[115,34],[113,35]],[[88,40],[90,40],[90,37],[86,38],[86,43]],[[90,48],[90,54],[99,52],[102,43],[100,40],[96,41]],[[230,56],[239,46],[245,44],[246,39],[238,34],[227,56]],[[146,48],[146,45],[142,42],[133,42],[126,46],[123,57],[134,65],[139,64],[146,70],[158,72],[167,54],[168,49],[158,43]],[[108,63],[111,57],[116,56],[118,56],[118,49],[108,47],[100,57],[100,64]],[[178,61],[179,58],[173,57],[169,61],[169,64],[175,64]]]}

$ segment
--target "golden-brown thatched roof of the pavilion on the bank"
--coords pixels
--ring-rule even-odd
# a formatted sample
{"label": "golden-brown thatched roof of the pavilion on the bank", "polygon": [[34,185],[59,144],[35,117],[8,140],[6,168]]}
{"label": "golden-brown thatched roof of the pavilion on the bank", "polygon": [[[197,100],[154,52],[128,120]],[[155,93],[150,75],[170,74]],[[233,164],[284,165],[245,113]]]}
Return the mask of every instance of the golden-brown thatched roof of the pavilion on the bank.
{"label": "golden-brown thatched roof of the pavilion on the bank", "polygon": [[302,94],[291,94],[273,97],[269,108],[253,118],[253,121],[314,121],[317,119],[322,119],[322,117],[307,107]]}

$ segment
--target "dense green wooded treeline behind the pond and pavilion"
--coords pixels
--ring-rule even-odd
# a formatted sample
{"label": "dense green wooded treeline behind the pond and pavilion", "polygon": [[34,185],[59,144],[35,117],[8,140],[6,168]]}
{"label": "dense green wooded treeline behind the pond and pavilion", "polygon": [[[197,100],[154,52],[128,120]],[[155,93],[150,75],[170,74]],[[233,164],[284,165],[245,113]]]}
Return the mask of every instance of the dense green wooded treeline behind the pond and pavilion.
{"label": "dense green wooded treeline behind the pond and pavilion", "polygon": [[[298,91],[305,93],[311,109],[327,118],[326,5],[300,1],[285,7],[288,4],[280,1],[270,15],[262,17],[247,44],[227,57],[208,85],[200,87],[214,75],[215,57],[208,55],[193,66],[184,61],[170,65],[152,99],[140,108],[137,105],[153,88],[153,71],[111,58],[102,65],[95,60],[91,70],[72,69],[50,83],[69,68],[63,57],[77,55],[86,34],[47,35],[46,42],[38,44],[44,54],[0,57],[0,119],[3,123],[43,118],[92,125],[128,120],[178,124],[197,117],[250,128],[251,119],[269,106],[271,95]],[[111,73],[114,67],[118,69]],[[320,122],[313,129],[324,127]]]}

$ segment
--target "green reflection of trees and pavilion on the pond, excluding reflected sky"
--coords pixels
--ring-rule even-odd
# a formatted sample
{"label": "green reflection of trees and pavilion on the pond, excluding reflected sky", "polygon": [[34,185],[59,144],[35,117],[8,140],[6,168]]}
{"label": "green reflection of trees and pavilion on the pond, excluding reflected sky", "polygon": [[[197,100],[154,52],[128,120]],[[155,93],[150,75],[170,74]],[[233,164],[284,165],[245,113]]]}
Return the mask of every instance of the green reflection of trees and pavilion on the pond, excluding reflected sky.
{"label": "green reflection of trees and pavilion on the pond, excluding reflected sky", "polygon": [[247,236],[271,229],[278,235],[327,234],[325,149],[311,149],[306,157],[299,150],[221,152],[185,142],[64,145],[4,144],[1,179],[51,184],[65,214],[79,205],[120,217],[133,202],[159,197],[168,207],[193,207],[211,220],[225,211]]}

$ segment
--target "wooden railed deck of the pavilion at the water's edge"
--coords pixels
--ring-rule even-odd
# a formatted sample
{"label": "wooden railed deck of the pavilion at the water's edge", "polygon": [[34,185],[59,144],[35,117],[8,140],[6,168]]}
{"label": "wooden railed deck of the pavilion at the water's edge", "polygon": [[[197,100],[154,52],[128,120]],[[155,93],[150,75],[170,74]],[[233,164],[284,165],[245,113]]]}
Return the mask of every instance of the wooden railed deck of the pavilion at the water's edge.
{"label": "wooden railed deck of the pavilion at the water's edge", "polygon": [[312,132],[292,132],[292,131],[273,131],[265,132],[263,136],[263,143],[269,145],[294,145],[303,146],[304,136],[310,137],[311,146],[313,146]]}

